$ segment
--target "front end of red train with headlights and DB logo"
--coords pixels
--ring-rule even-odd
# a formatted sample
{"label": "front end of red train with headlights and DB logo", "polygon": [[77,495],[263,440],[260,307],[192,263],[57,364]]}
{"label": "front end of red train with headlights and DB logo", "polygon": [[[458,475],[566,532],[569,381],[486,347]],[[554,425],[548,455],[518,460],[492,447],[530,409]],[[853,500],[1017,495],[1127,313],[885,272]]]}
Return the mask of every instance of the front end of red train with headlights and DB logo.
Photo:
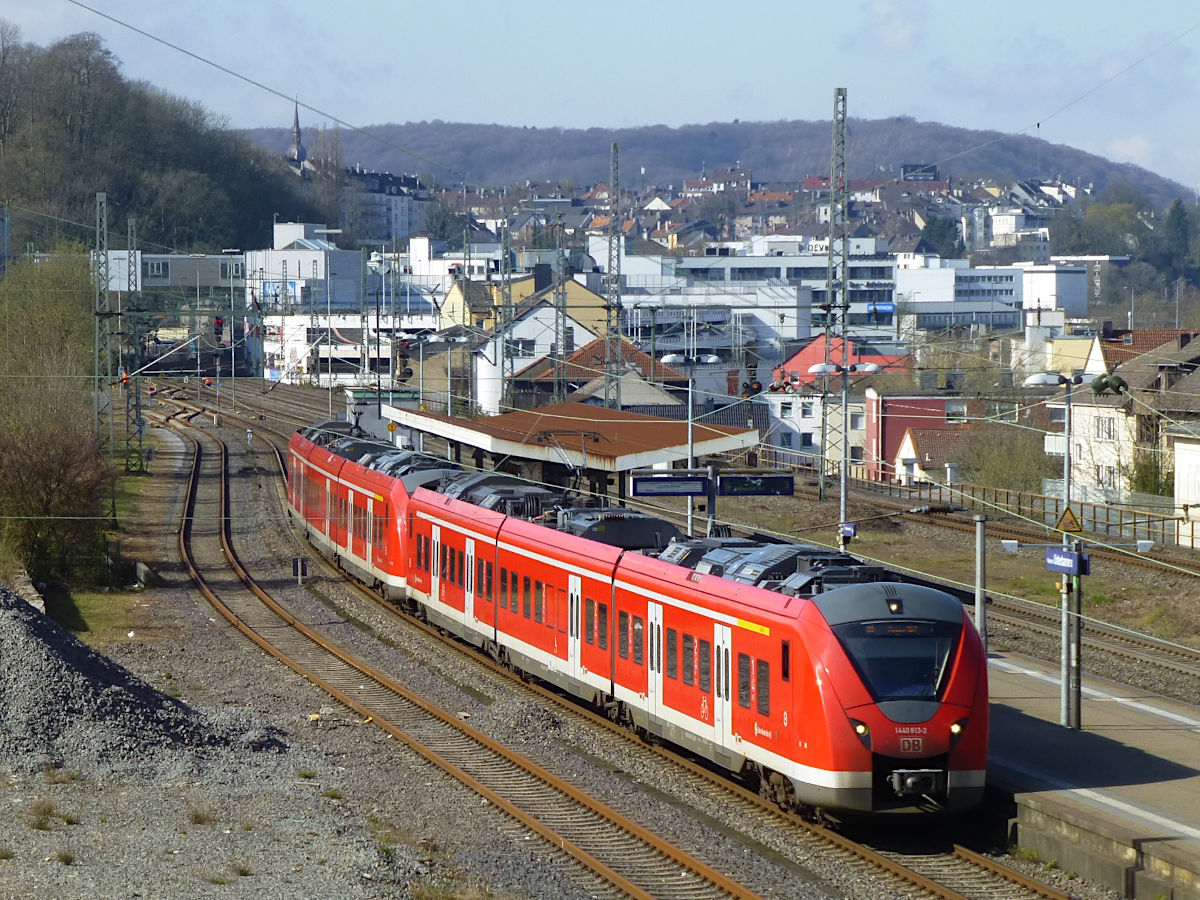
{"label": "front end of red train with headlights and DB logo", "polygon": [[977,805],[988,764],[988,665],[962,604],[892,582],[811,602],[829,629],[818,660],[828,673],[829,749],[836,768],[853,773],[838,805],[870,814]]}

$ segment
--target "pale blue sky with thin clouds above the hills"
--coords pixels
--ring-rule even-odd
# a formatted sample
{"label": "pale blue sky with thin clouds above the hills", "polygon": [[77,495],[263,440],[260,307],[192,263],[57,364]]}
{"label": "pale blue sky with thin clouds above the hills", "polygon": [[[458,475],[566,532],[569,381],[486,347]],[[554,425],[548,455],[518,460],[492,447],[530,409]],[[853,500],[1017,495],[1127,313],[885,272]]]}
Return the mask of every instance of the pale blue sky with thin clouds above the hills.
{"label": "pale blue sky with thin clouds above the hills", "polygon": [[0,19],[41,47],[94,31],[125,77],[233,127],[290,126],[293,101],[306,128],[828,121],[846,88],[851,120],[1024,133],[1200,187],[1190,0],[5,0]]}

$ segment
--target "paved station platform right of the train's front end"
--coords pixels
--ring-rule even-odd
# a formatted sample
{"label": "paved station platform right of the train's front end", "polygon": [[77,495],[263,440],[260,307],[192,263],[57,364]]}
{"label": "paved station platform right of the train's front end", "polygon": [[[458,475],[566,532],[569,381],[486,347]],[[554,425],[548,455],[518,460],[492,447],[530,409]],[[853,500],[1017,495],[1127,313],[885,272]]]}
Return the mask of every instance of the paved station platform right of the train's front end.
{"label": "paved station platform right of the train's front end", "polygon": [[1200,708],[1085,677],[1070,731],[1057,666],[991,653],[989,679],[988,781],[1016,845],[1127,898],[1200,900]]}

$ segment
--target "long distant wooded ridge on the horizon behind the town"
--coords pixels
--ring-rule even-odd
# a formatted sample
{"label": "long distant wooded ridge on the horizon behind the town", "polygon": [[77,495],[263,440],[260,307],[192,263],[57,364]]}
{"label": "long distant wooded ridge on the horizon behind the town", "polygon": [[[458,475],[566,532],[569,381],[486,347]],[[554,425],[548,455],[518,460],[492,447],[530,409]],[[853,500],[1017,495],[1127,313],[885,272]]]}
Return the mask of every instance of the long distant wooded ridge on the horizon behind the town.
{"label": "long distant wooded ridge on the horizon behind the town", "polygon": [[[311,145],[320,122],[301,127]],[[437,184],[466,181],[474,186],[558,181],[590,185],[608,178],[608,149],[620,144],[626,187],[680,186],[702,172],[740,163],[756,181],[796,182],[805,175],[828,175],[828,121],[710,122],[671,128],[532,128],[505,125],[408,122],[373,125],[341,132],[348,166],[376,172],[412,172]],[[245,132],[276,154],[287,150],[290,128]],[[1001,181],[1062,176],[1102,190],[1112,182],[1132,185],[1159,209],[1189,192],[1138,166],[1115,163],[1062,144],[1021,134],[955,128],[937,122],[851,119],[846,164],[853,179],[889,179],[904,163],[936,163],[940,174]],[[644,167],[646,174],[642,175]]]}

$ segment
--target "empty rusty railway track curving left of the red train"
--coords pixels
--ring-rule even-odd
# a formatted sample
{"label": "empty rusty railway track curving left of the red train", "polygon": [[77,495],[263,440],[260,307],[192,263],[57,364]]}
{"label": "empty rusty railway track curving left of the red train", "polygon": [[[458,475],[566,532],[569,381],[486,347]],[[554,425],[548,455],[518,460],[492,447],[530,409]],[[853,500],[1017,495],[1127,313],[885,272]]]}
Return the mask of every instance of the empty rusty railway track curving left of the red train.
{"label": "empty rusty railway track curving left of the red train", "polygon": [[[246,637],[536,834],[551,852],[582,868],[599,893],[755,896],[304,625],[238,559],[229,529],[226,445],[194,426],[173,424],[194,449],[180,556],[209,602]],[[216,450],[205,452],[205,443]]]}

